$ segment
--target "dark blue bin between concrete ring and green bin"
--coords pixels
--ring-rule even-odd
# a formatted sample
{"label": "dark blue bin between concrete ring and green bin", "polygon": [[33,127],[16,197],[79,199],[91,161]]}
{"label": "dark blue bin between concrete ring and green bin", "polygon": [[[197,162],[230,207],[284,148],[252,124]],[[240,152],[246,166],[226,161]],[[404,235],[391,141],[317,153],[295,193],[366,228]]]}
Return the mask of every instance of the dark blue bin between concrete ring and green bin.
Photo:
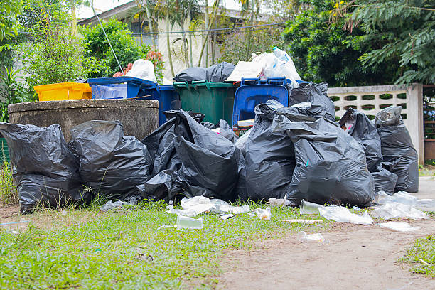
{"label": "dark blue bin between concrete ring and green bin", "polygon": [[157,85],[141,89],[139,95],[146,95],[145,99],[159,101],[159,125],[166,122],[165,111],[181,109],[181,100],[173,85]]}

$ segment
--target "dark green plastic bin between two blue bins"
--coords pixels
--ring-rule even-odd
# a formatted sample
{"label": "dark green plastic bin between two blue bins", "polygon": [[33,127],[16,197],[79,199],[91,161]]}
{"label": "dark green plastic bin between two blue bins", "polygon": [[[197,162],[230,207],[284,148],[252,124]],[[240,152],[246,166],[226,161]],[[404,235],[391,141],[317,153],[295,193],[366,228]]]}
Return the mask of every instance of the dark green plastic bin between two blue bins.
{"label": "dark green plastic bin between two blue bins", "polygon": [[181,109],[203,113],[204,122],[217,124],[224,119],[232,124],[232,107],[234,106],[234,85],[223,82],[207,82],[205,80],[174,82],[173,87],[181,99]]}

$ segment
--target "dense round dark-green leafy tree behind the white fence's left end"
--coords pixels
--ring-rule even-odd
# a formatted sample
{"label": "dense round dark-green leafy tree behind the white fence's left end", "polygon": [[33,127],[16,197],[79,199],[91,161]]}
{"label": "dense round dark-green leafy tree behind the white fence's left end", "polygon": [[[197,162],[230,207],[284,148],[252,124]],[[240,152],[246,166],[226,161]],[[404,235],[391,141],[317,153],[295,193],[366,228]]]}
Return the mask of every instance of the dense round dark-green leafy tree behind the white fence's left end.
{"label": "dense round dark-green leafy tree behind the white fence's left end", "polygon": [[[330,86],[385,85],[399,77],[399,59],[363,65],[359,58],[382,48],[382,36],[367,36],[362,28],[345,30],[345,17],[334,17],[343,5],[333,0],[303,1],[309,8],[286,23],[284,40],[304,80],[326,81]],[[350,15],[355,7],[343,13]],[[335,14],[338,16],[338,14]]]}

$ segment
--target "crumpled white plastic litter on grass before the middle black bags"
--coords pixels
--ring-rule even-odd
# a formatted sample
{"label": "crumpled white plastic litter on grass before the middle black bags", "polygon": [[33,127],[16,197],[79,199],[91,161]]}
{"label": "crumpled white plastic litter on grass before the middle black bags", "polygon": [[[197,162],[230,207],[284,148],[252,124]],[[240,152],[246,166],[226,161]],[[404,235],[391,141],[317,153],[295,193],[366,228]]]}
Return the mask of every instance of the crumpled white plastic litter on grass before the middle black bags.
{"label": "crumpled white plastic litter on grass before the middle black bags", "polygon": [[239,213],[248,213],[251,211],[249,205],[232,206],[224,200],[218,198],[210,199],[205,196],[194,196],[193,198],[183,198],[181,200],[180,209],[173,208],[173,205],[168,205],[166,213],[174,213],[176,215],[183,215],[186,217],[194,217],[200,213],[232,213],[237,215]]}

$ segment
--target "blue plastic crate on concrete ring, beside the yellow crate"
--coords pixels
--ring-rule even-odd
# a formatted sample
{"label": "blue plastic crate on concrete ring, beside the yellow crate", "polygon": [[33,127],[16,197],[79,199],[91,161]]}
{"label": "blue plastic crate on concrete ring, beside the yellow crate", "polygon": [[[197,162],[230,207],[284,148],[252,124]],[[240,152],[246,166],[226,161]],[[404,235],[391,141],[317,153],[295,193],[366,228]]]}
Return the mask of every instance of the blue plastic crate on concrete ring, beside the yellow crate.
{"label": "blue plastic crate on concrete ring, beside the yellow crate", "polygon": [[[144,88],[155,87],[150,80],[139,77],[99,77],[87,79],[92,87],[92,99],[132,99]],[[126,90],[127,87],[127,90]]]}

